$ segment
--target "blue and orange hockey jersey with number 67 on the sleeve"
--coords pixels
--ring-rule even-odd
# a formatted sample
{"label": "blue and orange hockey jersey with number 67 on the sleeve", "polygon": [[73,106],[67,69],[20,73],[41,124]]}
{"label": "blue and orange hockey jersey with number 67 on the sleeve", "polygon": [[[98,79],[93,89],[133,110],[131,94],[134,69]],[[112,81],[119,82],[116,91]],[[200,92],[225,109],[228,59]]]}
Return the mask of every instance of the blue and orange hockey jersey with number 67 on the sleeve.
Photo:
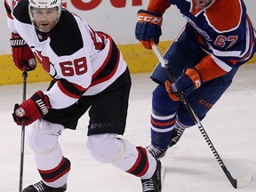
{"label": "blue and orange hockey jersey with number 67 on the sleeve", "polygon": [[243,0],[212,0],[204,8],[198,7],[195,0],[150,0],[148,11],[164,13],[172,4],[196,29],[198,44],[209,53],[196,65],[204,82],[252,59],[256,31]]}

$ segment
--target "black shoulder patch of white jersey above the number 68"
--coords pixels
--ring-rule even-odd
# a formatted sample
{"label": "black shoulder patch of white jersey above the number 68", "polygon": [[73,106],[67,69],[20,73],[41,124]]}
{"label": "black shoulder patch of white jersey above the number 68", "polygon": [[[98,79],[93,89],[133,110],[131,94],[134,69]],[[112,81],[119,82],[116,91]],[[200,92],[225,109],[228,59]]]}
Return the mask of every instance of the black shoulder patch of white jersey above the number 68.
{"label": "black shoulder patch of white jersey above the number 68", "polygon": [[74,14],[63,10],[50,36],[52,51],[58,56],[77,52],[84,46],[82,33]]}

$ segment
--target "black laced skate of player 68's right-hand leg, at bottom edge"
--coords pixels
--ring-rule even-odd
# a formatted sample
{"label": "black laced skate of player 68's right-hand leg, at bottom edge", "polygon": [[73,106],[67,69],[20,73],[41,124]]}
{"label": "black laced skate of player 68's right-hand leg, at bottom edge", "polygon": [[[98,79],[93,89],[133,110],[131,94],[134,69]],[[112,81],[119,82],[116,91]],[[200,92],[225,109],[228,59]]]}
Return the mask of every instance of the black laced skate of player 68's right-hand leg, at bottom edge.
{"label": "black laced skate of player 68's right-hand leg, at bottom edge", "polygon": [[165,170],[161,162],[156,159],[156,171],[148,180],[141,180],[142,192],[161,192],[164,185]]}

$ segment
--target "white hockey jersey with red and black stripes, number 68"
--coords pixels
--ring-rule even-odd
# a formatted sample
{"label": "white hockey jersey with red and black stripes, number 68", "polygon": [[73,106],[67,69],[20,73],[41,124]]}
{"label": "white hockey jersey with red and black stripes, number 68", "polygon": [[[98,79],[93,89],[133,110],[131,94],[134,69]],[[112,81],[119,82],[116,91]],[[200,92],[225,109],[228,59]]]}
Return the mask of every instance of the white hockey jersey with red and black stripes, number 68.
{"label": "white hockey jersey with red and black stripes, number 68", "polygon": [[65,8],[56,26],[42,33],[29,18],[28,0],[4,0],[4,5],[9,28],[27,42],[44,70],[57,80],[44,92],[52,108],[67,108],[82,95],[102,92],[127,68],[111,36],[95,32]]}

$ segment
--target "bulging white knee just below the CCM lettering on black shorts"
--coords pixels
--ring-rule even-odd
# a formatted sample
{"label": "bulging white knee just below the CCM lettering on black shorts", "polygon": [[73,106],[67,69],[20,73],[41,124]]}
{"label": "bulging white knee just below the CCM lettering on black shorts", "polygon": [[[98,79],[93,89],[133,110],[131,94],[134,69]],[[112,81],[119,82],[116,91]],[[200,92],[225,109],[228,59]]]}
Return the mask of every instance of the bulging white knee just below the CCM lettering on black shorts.
{"label": "bulging white knee just below the CCM lettering on black shorts", "polygon": [[116,138],[116,134],[109,133],[91,135],[87,140],[87,148],[92,157],[104,164],[115,162],[123,145],[122,140]]}

